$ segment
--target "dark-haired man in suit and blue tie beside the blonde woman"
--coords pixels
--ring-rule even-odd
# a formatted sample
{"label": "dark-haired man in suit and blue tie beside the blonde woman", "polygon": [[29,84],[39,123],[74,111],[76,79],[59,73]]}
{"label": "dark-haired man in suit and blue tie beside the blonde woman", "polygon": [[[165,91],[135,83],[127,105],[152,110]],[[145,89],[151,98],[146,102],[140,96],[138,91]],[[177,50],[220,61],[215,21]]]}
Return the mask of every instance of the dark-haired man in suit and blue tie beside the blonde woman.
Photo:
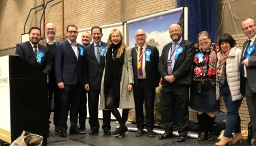
{"label": "dark-haired man in suit and blue tie beside the blonde woman", "polygon": [[[86,73],[85,88],[88,91],[88,106],[89,106],[89,123],[90,135],[99,133],[99,94],[101,91],[101,78],[105,67],[105,55],[101,55],[101,46],[105,46],[105,42],[101,42],[103,36],[101,27],[95,26],[91,29],[93,43],[84,48]],[[104,134],[112,134],[110,132],[110,110],[103,110],[103,125]]]}

